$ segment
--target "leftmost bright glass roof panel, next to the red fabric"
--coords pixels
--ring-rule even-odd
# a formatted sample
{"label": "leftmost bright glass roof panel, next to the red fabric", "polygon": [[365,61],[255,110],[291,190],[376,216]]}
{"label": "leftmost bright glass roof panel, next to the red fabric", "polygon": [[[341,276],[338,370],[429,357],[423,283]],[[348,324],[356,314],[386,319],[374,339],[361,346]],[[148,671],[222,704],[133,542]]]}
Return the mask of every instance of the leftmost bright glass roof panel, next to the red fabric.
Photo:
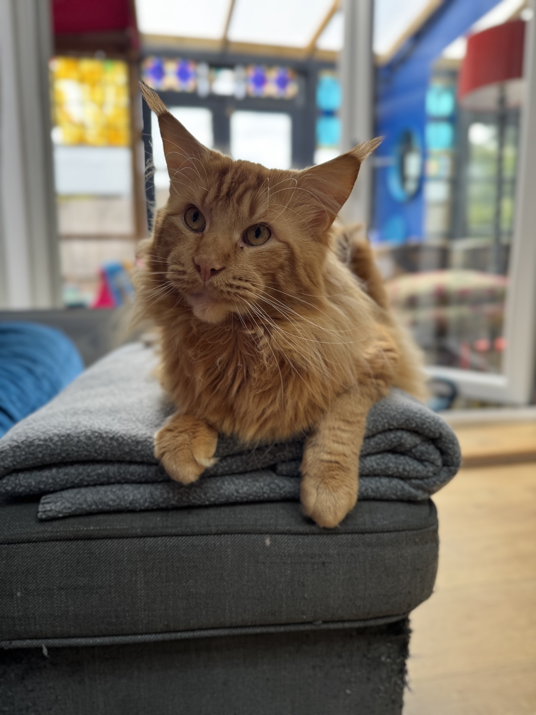
{"label": "leftmost bright glass roof panel, next to the red fabric", "polygon": [[231,0],[136,0],[139,31],[222,39],[230,6]]}

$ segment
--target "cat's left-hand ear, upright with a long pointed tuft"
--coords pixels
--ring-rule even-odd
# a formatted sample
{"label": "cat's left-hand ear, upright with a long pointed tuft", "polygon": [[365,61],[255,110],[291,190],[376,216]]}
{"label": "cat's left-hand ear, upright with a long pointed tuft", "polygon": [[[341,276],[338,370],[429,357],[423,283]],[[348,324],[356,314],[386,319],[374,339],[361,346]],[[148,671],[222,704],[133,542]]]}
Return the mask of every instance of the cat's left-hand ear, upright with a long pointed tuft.
{"label": "cat's left-hand ear, upright with a long pointed tuft", "polygon": [[142,90],[145,101],[158,117],[167,170],[169,177],[172,179],[179,169],[187,164],[192,164],[192,159],[195,161],[195,159],[207,157],[210,149],[198,142],[186,127],[183,127],[179,120],[168,112],[162,99],[156,92],[149,89],[147,84],[140,82],[139,87]]}

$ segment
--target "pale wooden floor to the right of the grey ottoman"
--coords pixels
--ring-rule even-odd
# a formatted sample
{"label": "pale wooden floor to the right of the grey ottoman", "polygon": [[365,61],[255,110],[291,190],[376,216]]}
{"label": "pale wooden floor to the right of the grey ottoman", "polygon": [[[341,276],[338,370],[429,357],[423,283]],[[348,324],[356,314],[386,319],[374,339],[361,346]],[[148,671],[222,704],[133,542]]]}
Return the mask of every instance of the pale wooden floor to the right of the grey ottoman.
{"label": "pale wooden floor to the right of the grey ottoman", "polygon": [[434,501],[440,567],[412,613],[404,715],[536,715],[536,463],[463,468]]}

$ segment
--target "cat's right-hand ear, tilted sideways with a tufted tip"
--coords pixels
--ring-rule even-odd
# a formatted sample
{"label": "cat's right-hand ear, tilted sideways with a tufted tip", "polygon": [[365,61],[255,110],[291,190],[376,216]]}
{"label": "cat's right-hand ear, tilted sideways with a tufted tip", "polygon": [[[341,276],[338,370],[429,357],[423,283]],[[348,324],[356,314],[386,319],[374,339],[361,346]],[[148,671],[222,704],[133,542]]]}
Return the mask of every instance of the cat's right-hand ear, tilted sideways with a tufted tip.
{"label": "cat's right-hand ear, tilted sideways with a tufted tip", "polygon": [[[364,159],[381,144],[383,137],[357,144],[346,154],[324,164],[304,169],[299,174],[297,185],[303,189],[310,204],[310,221],[317,230],[325,231],[332,225],[342,205],[354,187],[359,167]],[[302,201],[306,200],[300,192]]]}

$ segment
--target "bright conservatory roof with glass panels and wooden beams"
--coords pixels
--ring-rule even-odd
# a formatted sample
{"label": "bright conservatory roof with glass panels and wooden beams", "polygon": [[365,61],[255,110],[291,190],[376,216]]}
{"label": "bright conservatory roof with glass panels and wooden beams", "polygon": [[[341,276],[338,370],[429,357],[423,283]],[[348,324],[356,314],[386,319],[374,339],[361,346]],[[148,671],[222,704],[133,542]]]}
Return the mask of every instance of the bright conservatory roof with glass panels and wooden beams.
{"label": "bright conservatory roof with glass panels and wooden beams", "polygon": [[[385,61],[443,0],[375,0],[374,54]],[[326,56],[342,49],[341,0],[136,0],[146,44],[247,54]]]}

